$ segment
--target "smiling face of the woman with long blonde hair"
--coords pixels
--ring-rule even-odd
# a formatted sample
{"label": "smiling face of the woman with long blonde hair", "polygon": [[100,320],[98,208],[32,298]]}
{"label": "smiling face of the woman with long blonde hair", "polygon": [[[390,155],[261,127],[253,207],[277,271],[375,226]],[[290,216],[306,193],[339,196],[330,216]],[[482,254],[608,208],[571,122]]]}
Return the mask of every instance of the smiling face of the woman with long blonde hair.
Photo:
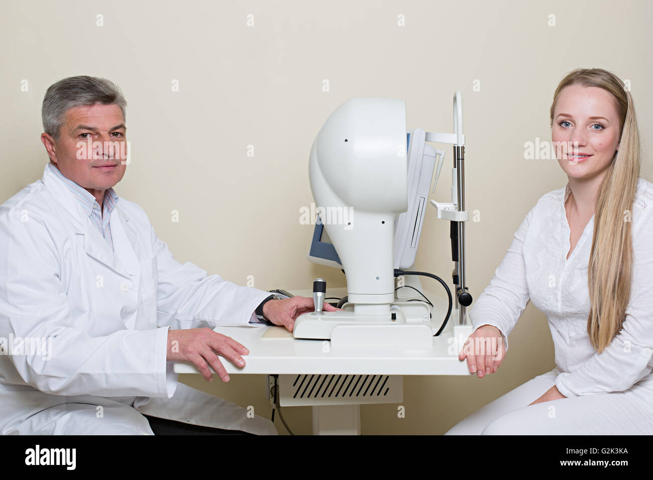
{"label": "smiling face of the woman with long blonde hair", "polygon": [[611,93],[579,84],[563,88],[554,107],[551,140],[569,177],[603,176],[619,147],[619,117]]}

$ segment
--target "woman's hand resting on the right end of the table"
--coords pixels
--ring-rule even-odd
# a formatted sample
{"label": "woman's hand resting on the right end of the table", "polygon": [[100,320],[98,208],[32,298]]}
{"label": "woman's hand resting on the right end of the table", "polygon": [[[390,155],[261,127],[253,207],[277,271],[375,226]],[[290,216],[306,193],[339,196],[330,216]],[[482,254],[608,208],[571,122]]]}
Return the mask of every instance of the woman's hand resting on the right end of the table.
{"label": "woman's hand resting on the right end of the table", "polygon": [[501,331],[493,325],[483,325],[473,332],[458,353],[458,359],[467,359],[470,372],[482,378],[494,374],[505,357]]}

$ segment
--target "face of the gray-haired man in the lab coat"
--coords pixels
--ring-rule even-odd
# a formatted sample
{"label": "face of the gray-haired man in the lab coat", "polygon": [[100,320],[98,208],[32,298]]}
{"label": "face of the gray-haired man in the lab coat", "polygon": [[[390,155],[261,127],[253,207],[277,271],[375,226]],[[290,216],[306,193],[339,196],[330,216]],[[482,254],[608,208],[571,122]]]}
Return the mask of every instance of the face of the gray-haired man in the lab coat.
{"label": "face of the gray-haired man in the lab coat", "polygon": [[65,113],[59,140],[41,140],[59,171],[95,195],[122,180],[127,168],[126,127],[116,104],[76,106]]}

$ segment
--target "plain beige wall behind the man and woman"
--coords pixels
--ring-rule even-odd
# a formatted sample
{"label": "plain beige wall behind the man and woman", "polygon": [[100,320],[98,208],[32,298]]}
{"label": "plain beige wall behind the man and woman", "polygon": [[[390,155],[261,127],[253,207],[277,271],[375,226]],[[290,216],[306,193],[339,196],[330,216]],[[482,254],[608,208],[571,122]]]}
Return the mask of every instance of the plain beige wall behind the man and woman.
{"label": "plain beige wall behind the man and woman", "polygon": [[[524,142],[550,140],[550,101],[566,72],[602,67],[630,80],[642,176],[653,180],[652,10],[646,0],[6,2],[0,201],[42,174],[46,88],[66,76],[103,76],[129,103],[132,163],[116,190],[148,212],[178,260],[240,284],[253,275],[261,289],[310,288],[317,276],[344,286],[341,272],[308,263],[312,227],[298,221],[312,201],[308,154],[317,131],[357,96],[404,99],[408,127],[451,131],[451,98],[460,89],[467,208],[481,213],[467,229],[468,287],[477,298],[528,210],[567,181],[557,162],[524,159]],[[451,150],[439,148],[448,158],[432,198],[449,201]],[[450,280],[449,223],[428,211],[415,268]],[[436,282],[424,286],[440,291]],[[483,379],[406,377],[406,418],[397,418],[396,404],[364,406],[362,432],[441,434],[554,367],[546,319],[534,306],[510,344],[498,374]],[[263,376],[232,376],[226,385],[180,380],[270,413]],[[310,432],[309,408],[285,417],[295,432]]]}

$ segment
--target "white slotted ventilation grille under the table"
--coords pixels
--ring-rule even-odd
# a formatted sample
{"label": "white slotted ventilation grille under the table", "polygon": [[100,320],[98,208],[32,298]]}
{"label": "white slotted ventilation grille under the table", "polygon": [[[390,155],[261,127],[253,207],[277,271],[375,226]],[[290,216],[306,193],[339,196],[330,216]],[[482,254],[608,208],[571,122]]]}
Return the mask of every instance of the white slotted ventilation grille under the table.
{"label": "white slotted ventilation grille under the table", "polygon": [[292,385],[295,400],[306,398],[383,398],[390,387],[387,375],[298,375]]}

